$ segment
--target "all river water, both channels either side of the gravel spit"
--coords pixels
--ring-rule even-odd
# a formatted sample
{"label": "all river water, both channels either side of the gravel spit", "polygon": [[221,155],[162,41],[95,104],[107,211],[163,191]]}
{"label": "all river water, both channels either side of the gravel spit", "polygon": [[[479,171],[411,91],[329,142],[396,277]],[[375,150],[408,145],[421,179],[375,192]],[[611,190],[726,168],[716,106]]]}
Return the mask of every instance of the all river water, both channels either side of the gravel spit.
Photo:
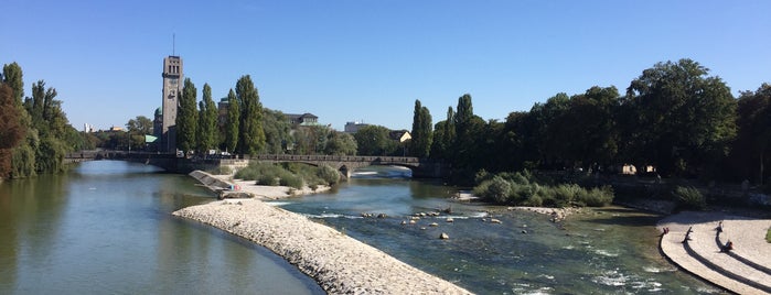
{"label": "all river water, both channels either side of the gravel spit", "polygon": [[[555,225],[542,215],[451,201],[454,192],[405,171],[372,168],[329,194],[275,205],[480,294],[719,293],[661,258],[657,216],[606,208]],[[0,294],[323,293],[264,248],[170,215],[211,200],[191,177],[125,162],[4,182]],[[449,207],[454,222],[443,215],[401,225]]]}

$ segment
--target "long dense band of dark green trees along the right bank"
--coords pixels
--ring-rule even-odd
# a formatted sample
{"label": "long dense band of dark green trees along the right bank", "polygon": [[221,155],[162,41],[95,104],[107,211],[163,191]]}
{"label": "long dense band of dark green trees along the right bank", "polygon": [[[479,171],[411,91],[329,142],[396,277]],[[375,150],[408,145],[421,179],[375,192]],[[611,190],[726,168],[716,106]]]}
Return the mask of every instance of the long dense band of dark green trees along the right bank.
{"label": "long dense band of dark green trees along the right bank", "polygon": [[613,86],[560,92],[503,122],[475,116],[470,95],[432,130],[426,120],[430,113],[416,101],[410,154],[451,163],[458,181],[481,170],[610,173],[622,164],[652,166],[664,177],[757,184],[769,177],[771,86],[735,98],[692,59],[644,69],[623,95]]}

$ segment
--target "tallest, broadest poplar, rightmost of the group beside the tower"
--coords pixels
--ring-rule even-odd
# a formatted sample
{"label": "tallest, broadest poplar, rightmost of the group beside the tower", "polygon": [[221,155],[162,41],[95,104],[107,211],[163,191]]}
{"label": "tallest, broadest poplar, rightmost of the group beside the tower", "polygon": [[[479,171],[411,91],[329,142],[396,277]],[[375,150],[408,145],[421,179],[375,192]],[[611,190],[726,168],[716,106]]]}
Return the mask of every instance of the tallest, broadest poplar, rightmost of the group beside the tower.
{"label": "tallest, broadest poplar, rightmost of the group beside the tower", "polygon": [[236,83],[236,96],[244,107],[240,120],[242,153],[256,155],[265,149],[263,130],[263,105],[249,75],[242,76]]}

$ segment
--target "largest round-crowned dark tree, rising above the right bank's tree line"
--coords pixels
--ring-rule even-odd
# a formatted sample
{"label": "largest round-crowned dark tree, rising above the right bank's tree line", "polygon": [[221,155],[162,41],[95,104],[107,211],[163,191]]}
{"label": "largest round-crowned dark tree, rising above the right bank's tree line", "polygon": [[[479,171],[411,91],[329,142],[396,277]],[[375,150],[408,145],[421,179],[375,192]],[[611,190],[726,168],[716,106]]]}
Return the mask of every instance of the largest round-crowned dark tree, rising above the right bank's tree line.
{"label": "largest round-crowned dark tree, rising above the right bank's tree line", "polygon": [[657,63],[627,88],[627,152],[662,175],[715,167],[736,134],[736,100],[719,77],[690,59]]}

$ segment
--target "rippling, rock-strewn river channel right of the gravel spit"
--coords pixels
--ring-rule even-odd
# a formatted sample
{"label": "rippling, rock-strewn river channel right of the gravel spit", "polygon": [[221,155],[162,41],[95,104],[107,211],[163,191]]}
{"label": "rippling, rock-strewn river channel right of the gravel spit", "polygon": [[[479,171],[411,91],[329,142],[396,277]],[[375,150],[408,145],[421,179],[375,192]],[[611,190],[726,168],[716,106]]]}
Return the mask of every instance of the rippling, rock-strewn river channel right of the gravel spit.
{"label": "rippling, rock-strewn river channel right of the gravel spit", "polygon": [[[373,168],[336,192],[276,205],[480,294],[720,293],[660,255],[654,228],[660,216],[610,207],[557,225],[533,212],[451,201],[454,188],[403,173]],[[450,216],[401,225],[416,212],[450,207]],[[388,218],[362,218],[362,212]],[[441,232],[450,239],[438,239]]]}

